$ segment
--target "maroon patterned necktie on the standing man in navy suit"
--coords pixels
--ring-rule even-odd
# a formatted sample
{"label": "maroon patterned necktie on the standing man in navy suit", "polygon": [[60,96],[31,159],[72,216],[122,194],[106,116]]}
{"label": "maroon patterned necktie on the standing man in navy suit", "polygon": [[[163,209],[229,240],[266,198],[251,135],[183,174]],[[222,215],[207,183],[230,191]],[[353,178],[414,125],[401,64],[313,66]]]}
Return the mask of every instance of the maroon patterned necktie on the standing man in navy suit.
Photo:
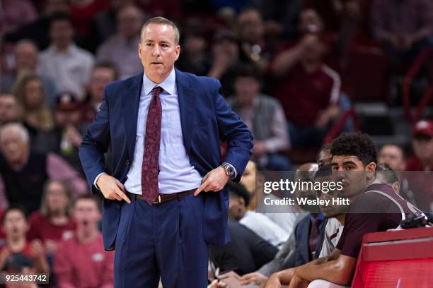
{"label": "maroon patterned necktie on the standing man in navy suit", "polygon": [[161,116],[162,107],[159,100],[161,87],[153,90],[153,99],[149,106],[146,121],[146,135],[144,136],[144,155],[142,164],[142,193],[149,205],[154,203],[159,195],[159,146],[161,144]]}

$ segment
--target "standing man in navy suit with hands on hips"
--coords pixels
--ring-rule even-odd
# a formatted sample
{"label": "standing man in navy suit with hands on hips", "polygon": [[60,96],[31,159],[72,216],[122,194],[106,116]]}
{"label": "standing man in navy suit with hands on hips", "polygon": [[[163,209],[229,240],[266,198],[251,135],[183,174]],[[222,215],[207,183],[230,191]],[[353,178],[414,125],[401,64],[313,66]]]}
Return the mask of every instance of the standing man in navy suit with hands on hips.
{"label": "standing man in navy suit with hands on hips", "polygon": [[105,198],[115,287],[157,287],[160,277],[164,288],[206,287],[207,245],[230,240],[226,183],[241,178],[253,138],[218,80],[174,68],[179,31],[170,20],[151,18],[141,36],[144,73],[105,88],[81,163]]}

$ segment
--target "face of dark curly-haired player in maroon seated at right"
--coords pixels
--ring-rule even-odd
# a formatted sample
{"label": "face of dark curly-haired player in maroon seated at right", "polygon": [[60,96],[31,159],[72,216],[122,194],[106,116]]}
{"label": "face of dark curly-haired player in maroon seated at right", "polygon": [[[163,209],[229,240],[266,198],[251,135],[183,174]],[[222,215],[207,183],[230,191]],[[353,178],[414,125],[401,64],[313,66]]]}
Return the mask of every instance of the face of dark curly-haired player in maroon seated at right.
{"label": "face of dark curly-haired player in maroon seated at right", "polygon": [[341,197],[352,198],[362,193],[374,178],[376,164],[364,166],[357,156],[337,156],[331,159],[331,169],[335,173],[335,181],[342,181]]}

